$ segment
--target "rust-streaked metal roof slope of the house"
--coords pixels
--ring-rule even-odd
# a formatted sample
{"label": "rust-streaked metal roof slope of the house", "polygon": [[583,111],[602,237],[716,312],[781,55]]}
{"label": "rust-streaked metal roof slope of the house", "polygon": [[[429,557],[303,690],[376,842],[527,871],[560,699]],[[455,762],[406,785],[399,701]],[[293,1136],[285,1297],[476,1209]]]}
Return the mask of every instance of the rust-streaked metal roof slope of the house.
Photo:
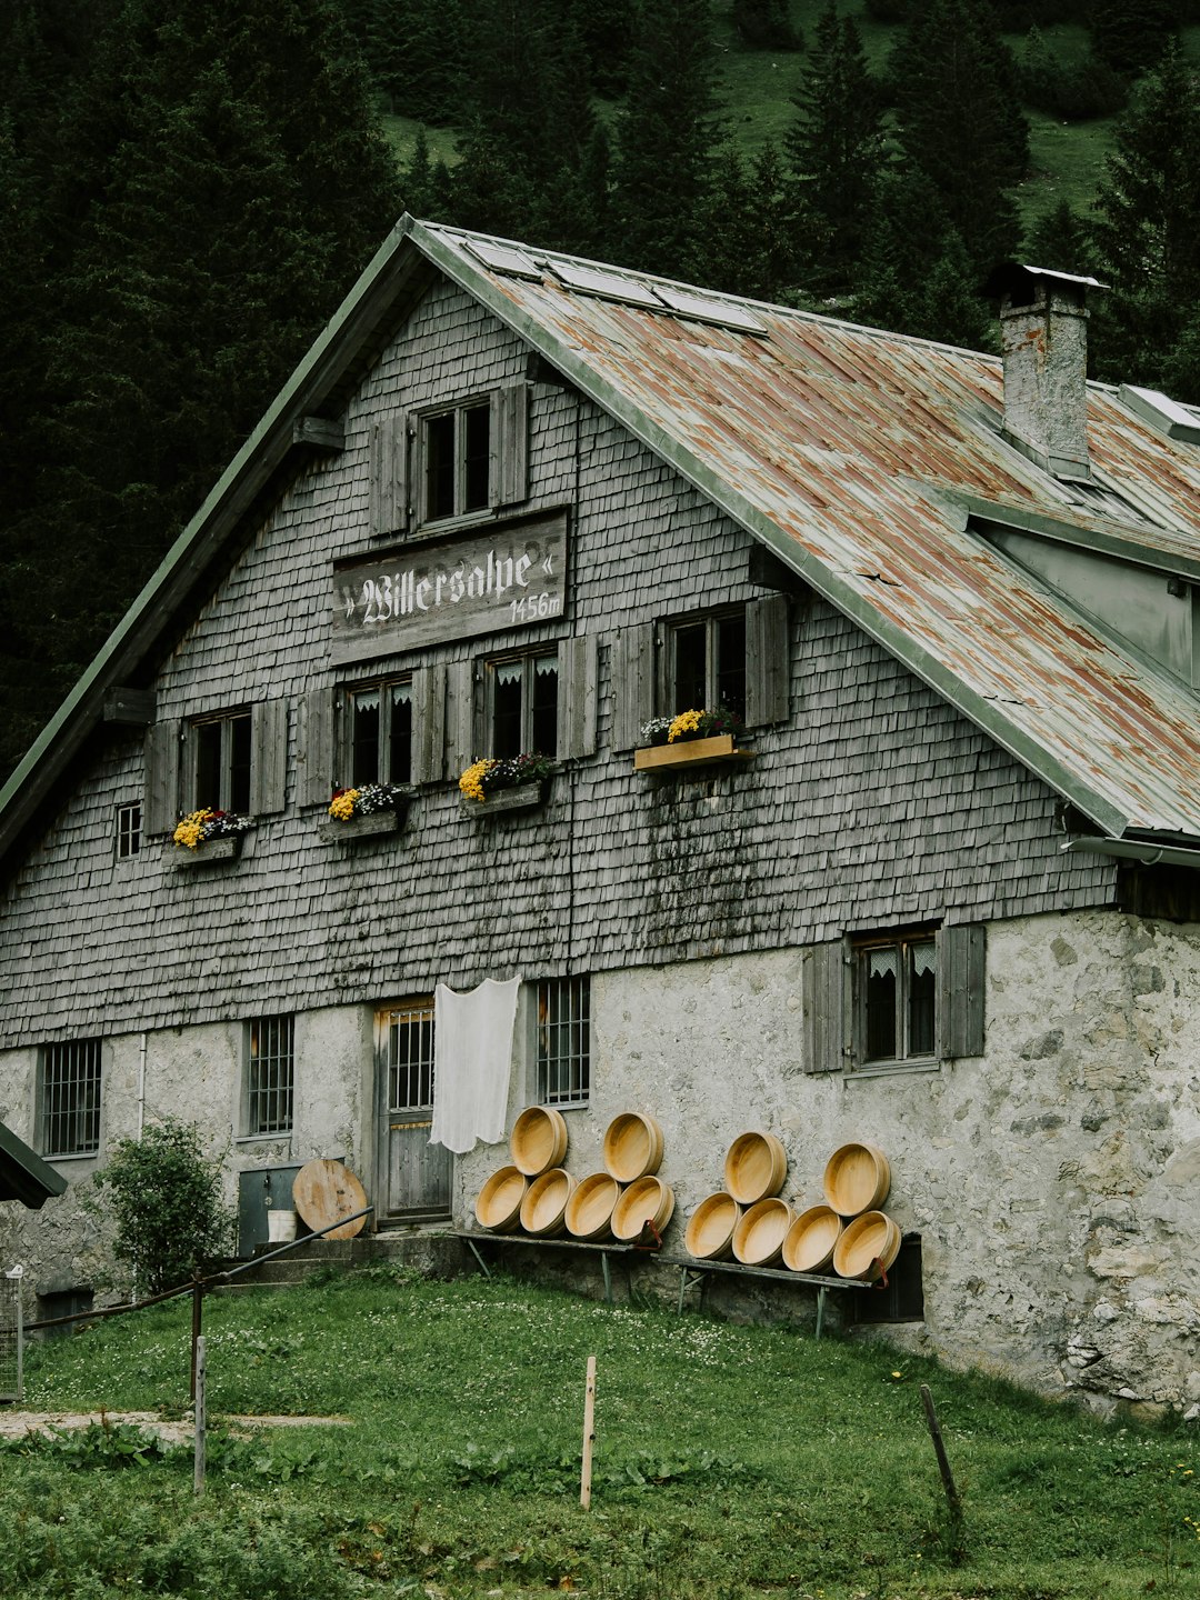
{"label": "rust-streaked metal roof slope of the house", "polygon": [[[418,224],[413,237],[1102,829],[1200,837],[1192,690],[968,522],[1045,526],[1200,579],[1190,445],[1090,384],[1096,475],[1142,512],[1106,515],[1000,437],[995,357],[701,290],[690,293],[712,315],[693,320],[579,293],[552,270],[566,258],[522,246],[546,270],[515,277],[488,269],[459,230]],[[661,282],[600,272],[640,290]],[[723,302],[763,333],[720,326]]]}

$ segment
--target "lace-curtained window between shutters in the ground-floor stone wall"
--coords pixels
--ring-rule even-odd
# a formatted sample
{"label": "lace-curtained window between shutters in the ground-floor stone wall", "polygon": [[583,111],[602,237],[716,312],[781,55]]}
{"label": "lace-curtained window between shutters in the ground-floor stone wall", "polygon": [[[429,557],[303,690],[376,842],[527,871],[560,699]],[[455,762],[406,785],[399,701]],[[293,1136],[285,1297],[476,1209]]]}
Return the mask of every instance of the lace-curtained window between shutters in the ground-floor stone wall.
{"label": "lace-curtained window between shutters in the ground-floor stone wall", "polygon": [[898,934],[854,946],[856,1056],[864,1066],[938,1050],[938,941]]}

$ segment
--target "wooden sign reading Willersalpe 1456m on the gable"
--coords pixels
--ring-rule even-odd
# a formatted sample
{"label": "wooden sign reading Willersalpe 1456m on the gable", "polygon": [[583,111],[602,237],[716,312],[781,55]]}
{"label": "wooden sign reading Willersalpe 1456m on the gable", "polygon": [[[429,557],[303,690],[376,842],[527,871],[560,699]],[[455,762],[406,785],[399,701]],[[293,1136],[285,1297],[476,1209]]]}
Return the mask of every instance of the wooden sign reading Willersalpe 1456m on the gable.
{"label": "wooden sign reading Willersalpe 1456m on the gable", "polygon": [[333,571],[333,659],[523,632],[566,605],[566,512],[400,546]]}

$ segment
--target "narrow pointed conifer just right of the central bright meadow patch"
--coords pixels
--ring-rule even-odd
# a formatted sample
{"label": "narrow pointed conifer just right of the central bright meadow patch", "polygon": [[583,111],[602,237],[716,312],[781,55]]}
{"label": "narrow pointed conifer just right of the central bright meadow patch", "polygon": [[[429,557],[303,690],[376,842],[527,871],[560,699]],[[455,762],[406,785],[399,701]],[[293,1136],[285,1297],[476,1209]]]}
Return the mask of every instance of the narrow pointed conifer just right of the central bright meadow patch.
{"label": "narrow pointed conifer just right of the central bright meadow patch", "polygon": [[826,293],[845,288],[854,275],[883,165],[878,86],[854,21],[838,16],[834,0],[818,19],[795,104],[800,114],[787,130],[784,154],[803,218],[797,254],[806,266],[806,286]]}

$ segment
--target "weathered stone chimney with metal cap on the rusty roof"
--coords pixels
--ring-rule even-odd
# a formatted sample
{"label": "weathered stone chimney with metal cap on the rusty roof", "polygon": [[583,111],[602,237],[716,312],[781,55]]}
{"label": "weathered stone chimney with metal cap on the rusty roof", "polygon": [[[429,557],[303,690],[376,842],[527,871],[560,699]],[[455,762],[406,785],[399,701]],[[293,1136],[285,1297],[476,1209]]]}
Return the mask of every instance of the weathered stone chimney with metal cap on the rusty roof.
{"label": "weathered stone chimney with metal cap on the rusty roof", "polygon": [[1058,478],[1091,478],[1085,301],[1102,285],[1013,262],[987,288],[1000,296],[1005,438]]}

